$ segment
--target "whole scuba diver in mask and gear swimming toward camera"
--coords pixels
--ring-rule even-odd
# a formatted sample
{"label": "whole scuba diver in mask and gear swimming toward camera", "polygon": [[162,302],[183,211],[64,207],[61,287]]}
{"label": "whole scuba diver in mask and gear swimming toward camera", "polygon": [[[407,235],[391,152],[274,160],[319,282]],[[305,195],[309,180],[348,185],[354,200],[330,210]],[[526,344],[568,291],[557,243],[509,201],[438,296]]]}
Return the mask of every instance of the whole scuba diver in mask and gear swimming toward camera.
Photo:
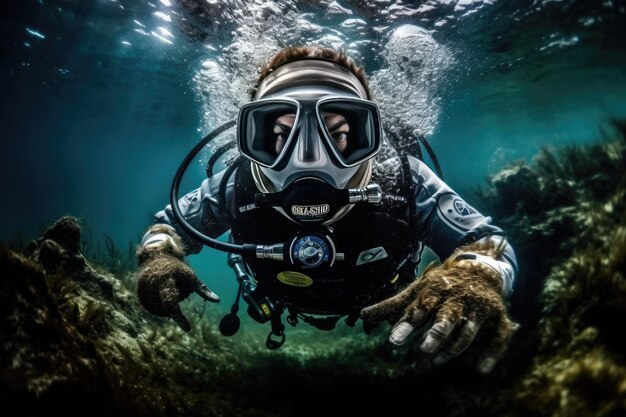
{"label": "whole scuba diver in mask and gear swimming toward camera", "polygon": [[[384,128],[364,69],[343,52],[288,47],[265,65],[236,121],[238,156],[213,174],[227,141],[207,163],[201,186],[170,204],[138,247],[138,296],[152,314],[191,325],[179,302],[195,292],[218,302],[184,262],[203,244],[228,253],[239,284],[220,331],[248,314],[271,324],[268,348],[285,341],[283,315],[330,330],[339,319],[366,332],[393,324],[389,341],[419,340],[442,364],[486,335],[478,370],[503,356],[514,324],[506,298],[516,271],[503,231],[460,198],[421,160],[424,141],[403,144]],[[385,137],[383,132],[385,132]],[[405,141],[406,142],[406,141]],[[216,237],[229,232],[228,242]],[[420,277],[424,245],[443,261]]]}

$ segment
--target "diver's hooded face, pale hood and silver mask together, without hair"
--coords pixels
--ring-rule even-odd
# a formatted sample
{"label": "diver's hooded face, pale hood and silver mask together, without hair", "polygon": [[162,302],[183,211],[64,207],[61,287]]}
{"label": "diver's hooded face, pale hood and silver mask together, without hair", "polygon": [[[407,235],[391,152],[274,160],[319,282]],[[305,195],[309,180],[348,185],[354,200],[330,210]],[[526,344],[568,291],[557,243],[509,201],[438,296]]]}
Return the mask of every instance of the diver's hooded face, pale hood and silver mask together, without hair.
{"label": "diver's hooded face, pale hood and silver mask together, without hair", "polygon": [[[359,78],[318,57],[291,61],[259,84],[239,112],[237,142],[259,189],[282,191],[312,176],[333,187],[363,187],[364,164],[381,147],[378,106]],[[364,166],[367,165],[367,166]]]}

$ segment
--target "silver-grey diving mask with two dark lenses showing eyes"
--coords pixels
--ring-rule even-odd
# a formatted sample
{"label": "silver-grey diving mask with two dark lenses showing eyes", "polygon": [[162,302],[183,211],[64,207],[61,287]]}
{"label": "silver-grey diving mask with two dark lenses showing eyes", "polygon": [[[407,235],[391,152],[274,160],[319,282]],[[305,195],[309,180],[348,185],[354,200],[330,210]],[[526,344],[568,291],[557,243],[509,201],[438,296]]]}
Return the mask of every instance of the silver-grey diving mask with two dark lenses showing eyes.
{"label": "silver-grey diving mask with two dark lenses showing eyes", "polygon": [[378,107],[355,97],[316,97],[330,93],[328,89],[298,90],[292,96],[299,99],[288,94],[241,108],[239,150],[261,167],[278,191],[306,176],[344,188],[359,166],[380,150]]}

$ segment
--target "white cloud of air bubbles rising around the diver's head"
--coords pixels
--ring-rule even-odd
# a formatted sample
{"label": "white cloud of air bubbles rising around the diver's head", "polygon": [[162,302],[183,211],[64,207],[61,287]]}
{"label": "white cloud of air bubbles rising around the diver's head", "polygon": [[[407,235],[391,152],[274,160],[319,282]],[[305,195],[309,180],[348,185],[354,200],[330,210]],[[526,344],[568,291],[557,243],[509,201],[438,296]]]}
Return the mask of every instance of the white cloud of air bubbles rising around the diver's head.
{"label": "white cloud of air bubbles rising around the diver's head", "polygon": [[[215,56],[201,63],[193,79],[204,115],[203,130],[236,117],[238,108],[249,101],[260,68],[278,50],[318,45],[344,50],[365,65],[386,133],[397,137],[394,143],[432,132],[440,111],[437,84],[453,61],[451,53],[426,30],[372,21],[357,5],[332,2],[323,12],[319,6],[316,12],[308,12],[303,3],[222,5],[219,18],[234,23],[232,38],[219,49],[207,46]],[[371,63],[382,64],[368,68]]]}

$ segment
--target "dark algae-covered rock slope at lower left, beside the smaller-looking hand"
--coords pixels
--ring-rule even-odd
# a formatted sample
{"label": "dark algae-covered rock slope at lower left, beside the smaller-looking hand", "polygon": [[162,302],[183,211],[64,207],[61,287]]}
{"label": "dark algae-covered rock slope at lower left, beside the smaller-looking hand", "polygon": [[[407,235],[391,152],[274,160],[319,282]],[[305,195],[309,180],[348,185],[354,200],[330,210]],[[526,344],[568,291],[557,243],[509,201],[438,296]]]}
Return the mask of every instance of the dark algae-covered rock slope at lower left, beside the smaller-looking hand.
{"label": "dark algae-covered rock slope at lower left, beside the smaller-looking hand", "polygon": [[[77,220],[65,217],[28,256],[0,248],[0,414],[189,415],[213,407],[204,378],[208,366],[216,374],[212,355],[186,349],[194,343],[147,315],[134,277],[96,273],[79,238]],[[188,314],[198,322],[196,310]]]}

